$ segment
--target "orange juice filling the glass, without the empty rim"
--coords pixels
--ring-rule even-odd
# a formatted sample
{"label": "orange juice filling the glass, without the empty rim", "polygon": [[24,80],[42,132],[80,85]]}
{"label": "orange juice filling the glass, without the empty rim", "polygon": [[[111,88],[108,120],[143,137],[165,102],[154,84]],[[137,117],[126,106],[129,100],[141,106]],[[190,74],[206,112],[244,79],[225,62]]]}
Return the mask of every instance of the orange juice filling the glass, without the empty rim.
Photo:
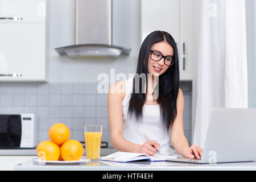
{"label": "orange juice filling the glass, without the empty rim", "polygon": [[102,132],[85,132],[85,149],[87,159],[99,159]]}

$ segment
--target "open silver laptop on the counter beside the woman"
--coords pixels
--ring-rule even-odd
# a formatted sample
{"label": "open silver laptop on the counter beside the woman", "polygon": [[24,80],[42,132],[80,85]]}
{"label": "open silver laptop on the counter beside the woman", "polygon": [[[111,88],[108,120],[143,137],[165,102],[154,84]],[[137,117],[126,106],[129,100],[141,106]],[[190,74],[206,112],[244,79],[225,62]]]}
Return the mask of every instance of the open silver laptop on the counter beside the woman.
{"label": "open silver laptop on the counter beside the woman", "polygon": [[201,159],[171,162],[227,163],[256,160],[256,109],[213,108]]}

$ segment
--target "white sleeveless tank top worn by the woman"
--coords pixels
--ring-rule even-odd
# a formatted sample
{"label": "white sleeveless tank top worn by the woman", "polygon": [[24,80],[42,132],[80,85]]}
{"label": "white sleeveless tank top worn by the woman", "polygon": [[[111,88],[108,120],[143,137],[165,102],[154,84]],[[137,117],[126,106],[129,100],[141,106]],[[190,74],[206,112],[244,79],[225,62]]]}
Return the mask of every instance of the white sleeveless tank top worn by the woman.
{"label": "white sleeveless tank top worn by the woman", "polygon": [[156,140],[160,144],[160,153],[162,155],[174,155],[174,151],[169,146],[169,134],[163,130],[160,106],[158,105],[144,105],[142,109],[142,121],[137,122],[132,117],[128,117],[127,111],[131,93],[133,91],[133,77],[126,80],[126,95],[123,98],[123,138],[132,143],[143,144],[147,139],[143,133],[148,136],[150,140]]}

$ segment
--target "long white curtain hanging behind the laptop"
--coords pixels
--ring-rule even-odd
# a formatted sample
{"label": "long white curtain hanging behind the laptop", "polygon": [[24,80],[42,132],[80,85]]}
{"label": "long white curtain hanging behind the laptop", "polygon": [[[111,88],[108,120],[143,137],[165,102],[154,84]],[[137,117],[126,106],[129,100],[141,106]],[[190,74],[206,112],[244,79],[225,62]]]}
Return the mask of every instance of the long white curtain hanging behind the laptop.
{"label": "long white curtain hanging behind the laptop", "polygon": [[204,146],[212,107],[247,107],[245,0],[195,1],[192,144]]}

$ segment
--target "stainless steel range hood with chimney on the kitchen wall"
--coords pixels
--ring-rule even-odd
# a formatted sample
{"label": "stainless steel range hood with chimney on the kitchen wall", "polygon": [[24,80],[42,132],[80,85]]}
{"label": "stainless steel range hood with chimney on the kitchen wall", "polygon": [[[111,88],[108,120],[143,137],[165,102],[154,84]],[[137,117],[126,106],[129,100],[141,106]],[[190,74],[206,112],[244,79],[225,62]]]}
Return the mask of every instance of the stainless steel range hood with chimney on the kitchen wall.
{"label": "stainless steel range hood with chimney on the kitchen wall", "polygon": [[69,57],[129,55],[131,49],[112,45],[112,0],[76,0],[76,44],[55,48]]}

